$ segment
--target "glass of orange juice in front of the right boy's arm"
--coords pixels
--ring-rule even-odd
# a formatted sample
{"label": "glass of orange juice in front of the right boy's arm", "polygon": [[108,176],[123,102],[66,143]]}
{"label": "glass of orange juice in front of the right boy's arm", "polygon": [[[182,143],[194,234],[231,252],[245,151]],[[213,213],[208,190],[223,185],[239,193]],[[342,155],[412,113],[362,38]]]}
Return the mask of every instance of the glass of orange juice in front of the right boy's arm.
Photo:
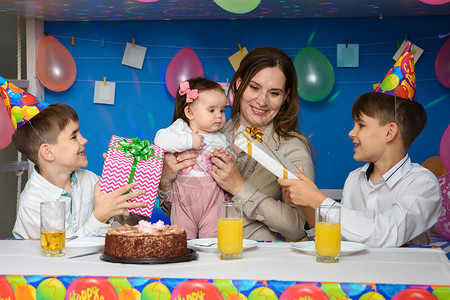
{"label": "glass of orange juice in front of the right boy's arm", "polygon": [[341,252],[341,207],[320,205],[316,207],[316,261],[339,262]]}

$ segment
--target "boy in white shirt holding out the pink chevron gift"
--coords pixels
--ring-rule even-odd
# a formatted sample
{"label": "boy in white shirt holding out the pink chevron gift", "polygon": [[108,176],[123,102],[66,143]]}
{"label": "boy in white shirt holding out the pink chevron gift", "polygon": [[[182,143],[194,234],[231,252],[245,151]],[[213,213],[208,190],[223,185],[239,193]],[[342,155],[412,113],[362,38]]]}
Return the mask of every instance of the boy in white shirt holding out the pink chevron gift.
{"label": "boy in white shirt holding out the pink chevron gift", "polygon": [[128,215],[127,208],[145,206],[129,203],[140,190],[126,191],[136,183],[114,192],[100,192],[99,177],[85,169],[87,140],[81,135],[78,115],[63,103],[51,104],[22,125],[12,141],[18,151],[35,163],[30,180],[20,195],[13,235],[16,238],[40,237],[40,203],[66,203],[66,236],[103,236],[116,215]]}

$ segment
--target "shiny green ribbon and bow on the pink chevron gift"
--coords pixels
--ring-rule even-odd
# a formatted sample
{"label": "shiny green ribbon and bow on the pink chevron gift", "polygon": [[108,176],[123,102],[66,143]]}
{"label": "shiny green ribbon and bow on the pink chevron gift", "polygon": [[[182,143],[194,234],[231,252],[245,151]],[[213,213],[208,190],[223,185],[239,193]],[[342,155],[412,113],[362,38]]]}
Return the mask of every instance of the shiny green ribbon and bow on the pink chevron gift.
{"label": "shiny green ribbon and bow on the pink chevron gift", "polygon": [[[137,137],[131,138],[131,142],[126,139],[120,140],[117,144],[121,147],[109,147],[112,149],[123,150],[125,157],[134,157],[133,166],[131,167],[130,177],[128,183],[133,182],[134,174],[136,173],[136,166],[143,160],[148,160],[150,157],[163,160],[162,157],[154,156],[155,150],[152,147],[152,142],[148,140],[140,140]],[[128,194],[130,191],[126,192]]]}

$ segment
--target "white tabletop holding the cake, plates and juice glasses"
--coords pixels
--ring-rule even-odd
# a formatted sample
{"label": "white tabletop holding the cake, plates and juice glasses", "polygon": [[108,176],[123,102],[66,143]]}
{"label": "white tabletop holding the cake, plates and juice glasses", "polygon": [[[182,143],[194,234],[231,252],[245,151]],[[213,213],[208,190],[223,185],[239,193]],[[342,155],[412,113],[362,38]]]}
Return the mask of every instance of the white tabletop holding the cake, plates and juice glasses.
{"label": "white tabletop holding the cake, plates and juice glasses", "polygon": [[37,240],[1,240],[0,276],[142,277],[210,279],[211,282],[233,279],[289,282],[290,285],[298,282],[388,284],[403,288],[443,286],[450,296],[450,262],[441,249],[432,248],[368,249],[343,256],[336,264],[317,263],[314,256],[292,248],[289,243],[278,242],[259,243],[258,247],[245,250],[241,260],[221,261],[217,253],[198,251],[197,260],[152,265],[110,263],[102,261],[100,254],[70,259],[74,254],[70,251],[63,257],[42,257],[39,253]]}

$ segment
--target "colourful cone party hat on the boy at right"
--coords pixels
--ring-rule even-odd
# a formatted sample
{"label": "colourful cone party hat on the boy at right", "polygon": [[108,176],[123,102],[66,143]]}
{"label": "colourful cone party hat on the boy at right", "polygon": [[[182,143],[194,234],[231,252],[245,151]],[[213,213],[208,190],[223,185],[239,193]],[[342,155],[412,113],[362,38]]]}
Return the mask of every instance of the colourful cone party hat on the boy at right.
{"label": "colourful cone party hat on the boy at right", "polygon": [[416,95],[416,74],[414,72],[414,54],[409,42],[405,51],[394,66],[375,88],[375,92],[385,93],[414,100]]}

